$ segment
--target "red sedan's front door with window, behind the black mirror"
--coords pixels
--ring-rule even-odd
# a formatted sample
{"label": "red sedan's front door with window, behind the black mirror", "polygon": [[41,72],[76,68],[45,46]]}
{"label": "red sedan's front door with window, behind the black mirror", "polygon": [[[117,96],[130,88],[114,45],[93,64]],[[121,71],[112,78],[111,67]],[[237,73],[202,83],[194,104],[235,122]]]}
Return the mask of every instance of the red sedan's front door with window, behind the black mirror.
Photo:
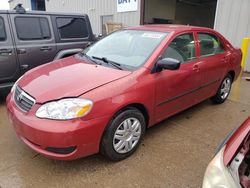
{"label": "red sedan's front door with window, behind the black mirror", "polygon": [[181,61],[179,70],[163,70],[155,73],[155,117],[161,121],[194,105],[198,95],[201,74],[196,58],[196,42],[193,33],[177,36],[167,47],[162,58]]}

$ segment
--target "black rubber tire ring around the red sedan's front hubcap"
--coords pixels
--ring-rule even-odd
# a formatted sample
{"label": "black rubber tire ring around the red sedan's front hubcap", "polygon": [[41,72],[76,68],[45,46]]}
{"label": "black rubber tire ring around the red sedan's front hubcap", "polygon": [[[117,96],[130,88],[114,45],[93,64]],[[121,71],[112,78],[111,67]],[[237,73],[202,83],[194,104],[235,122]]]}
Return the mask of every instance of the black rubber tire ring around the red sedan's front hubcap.
{"label": "black rubber tire ring around the red sedan's front hubcap", "polygon": [[[133,148],[128,151],[127,153],[119,153],[115,150],[115,146],[113,144],[114,142],[114,136],[118,128],[122,125],[125,120],[128,118],[134,118],[140,122],[140,137],[139,140],[136,142],[136,144],[133,146]],[[100,144],[100,153],[104,155],[106,158],[112,161],[120,161],[123,159],[126,159],[130,155],[132,155],[135,150],[138,148],[138,146],[141,143],[141,140],[145,134],[146,130],[146,122],[143,114],[137,110],[136,108],[128,108],[118,115],[116,115],[111,122],[109,123],[106,131],[104,132],[104,135],[102,137],[102,141]],[[132,136],[133,137],[133,136]]]}

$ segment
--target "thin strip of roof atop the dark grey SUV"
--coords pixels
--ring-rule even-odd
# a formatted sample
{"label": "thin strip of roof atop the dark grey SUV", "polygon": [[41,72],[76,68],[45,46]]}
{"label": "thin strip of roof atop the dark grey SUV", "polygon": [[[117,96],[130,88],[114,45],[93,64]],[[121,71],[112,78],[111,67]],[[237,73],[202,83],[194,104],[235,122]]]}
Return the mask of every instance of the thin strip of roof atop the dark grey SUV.
{"label": "thin strip of roof atop the dark grey SUV", "polygon": [[63,12],[47,12],[47,11],[26,11],[25,13],[18,13],[15,10],[0,10],[0,14],[87,16],[87,14],[63,13]]}

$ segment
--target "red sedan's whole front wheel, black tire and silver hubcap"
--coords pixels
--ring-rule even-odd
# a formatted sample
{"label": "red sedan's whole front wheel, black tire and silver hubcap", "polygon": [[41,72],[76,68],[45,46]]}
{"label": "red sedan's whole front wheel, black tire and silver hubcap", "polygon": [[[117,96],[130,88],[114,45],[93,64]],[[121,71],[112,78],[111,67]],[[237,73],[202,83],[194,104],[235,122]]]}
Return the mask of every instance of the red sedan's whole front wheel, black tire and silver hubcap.
{"label": "red sedan's whole front wheel, black tire and silver hubcap", "polygon": [[145,128],[145,118],[139,110],[129,108],[121,112],[114,117],[104,133],[101,153],[113,161],[129,157],[139,146]]}

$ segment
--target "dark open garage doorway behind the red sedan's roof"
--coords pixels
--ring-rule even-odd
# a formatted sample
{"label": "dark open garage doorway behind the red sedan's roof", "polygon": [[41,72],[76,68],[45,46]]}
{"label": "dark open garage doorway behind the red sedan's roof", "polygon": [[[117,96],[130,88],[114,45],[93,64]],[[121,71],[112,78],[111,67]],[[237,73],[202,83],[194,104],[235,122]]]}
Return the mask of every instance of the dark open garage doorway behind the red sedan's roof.
{"label": "dark open garage doorway behind the red sedan's roof", "polygon": [[144,0],[142,24],[214,27],[217,0]]}

